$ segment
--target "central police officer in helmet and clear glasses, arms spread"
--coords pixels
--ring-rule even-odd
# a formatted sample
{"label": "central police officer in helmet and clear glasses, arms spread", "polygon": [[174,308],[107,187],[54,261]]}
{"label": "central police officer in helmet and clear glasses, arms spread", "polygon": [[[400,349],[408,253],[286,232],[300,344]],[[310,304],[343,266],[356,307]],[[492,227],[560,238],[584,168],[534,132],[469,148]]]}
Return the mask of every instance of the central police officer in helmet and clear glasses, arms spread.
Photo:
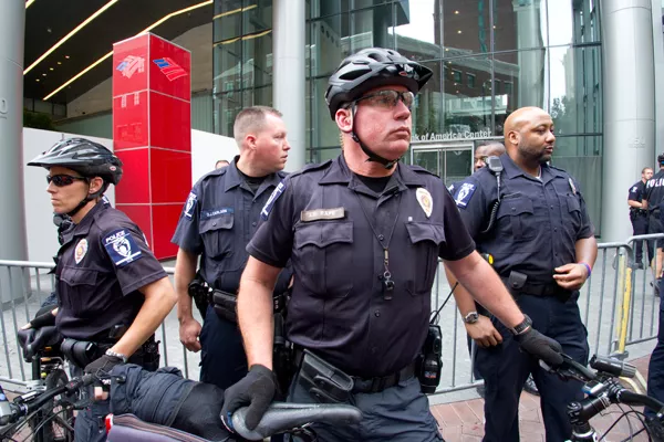
{"label": "central police officer in helmet and clear glasses, arms spread", "polygon": [[289,259],[287,337],[301,367],[288,400],[352,403],[364,415],[356,425],[314,424],[320,440],[442,440],[415,376],[438,256],[515,327],[527,351],[561,361],[558,344],[530,327],[475,252],[440,179],[398,162],[411,141],[415,94],[430,76],[428,67],[380,48],[350,55],[332,74],[325,98],[342,154],[290,175],[261,212],[238,295],[250,371],[225,393],[227,422],[249,404],[246,422],[253,428],[272,400],[270,293]]}

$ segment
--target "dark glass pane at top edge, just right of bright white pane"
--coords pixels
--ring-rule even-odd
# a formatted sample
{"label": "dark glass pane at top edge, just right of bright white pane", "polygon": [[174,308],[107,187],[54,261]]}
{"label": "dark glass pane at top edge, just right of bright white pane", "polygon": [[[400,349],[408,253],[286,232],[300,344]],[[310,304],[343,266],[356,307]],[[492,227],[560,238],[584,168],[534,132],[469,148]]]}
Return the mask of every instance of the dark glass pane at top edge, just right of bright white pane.
{"label": "dark glass pane at top edge, just right of bright white pane", "polygon": [[[510,0],[511,2],[511,0]],[[443,21],[443,45],[446,56],[485,53],[491,50],[490,1],[443,1],[442,13],[436,2],[436,19]]]}

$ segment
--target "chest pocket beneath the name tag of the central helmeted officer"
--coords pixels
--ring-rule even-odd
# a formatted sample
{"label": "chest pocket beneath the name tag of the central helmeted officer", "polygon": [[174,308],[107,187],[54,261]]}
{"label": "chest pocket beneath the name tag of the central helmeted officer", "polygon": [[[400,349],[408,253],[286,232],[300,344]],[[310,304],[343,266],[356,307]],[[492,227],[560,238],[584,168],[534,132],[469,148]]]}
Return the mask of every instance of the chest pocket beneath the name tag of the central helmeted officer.
{"label": "chest pocket beneath the name tag of the central helmeted officer", "polygon": [[318,221],[295,228],[293,261],[301,283],[322,297],[346,297],[353,288],[353,222]]}

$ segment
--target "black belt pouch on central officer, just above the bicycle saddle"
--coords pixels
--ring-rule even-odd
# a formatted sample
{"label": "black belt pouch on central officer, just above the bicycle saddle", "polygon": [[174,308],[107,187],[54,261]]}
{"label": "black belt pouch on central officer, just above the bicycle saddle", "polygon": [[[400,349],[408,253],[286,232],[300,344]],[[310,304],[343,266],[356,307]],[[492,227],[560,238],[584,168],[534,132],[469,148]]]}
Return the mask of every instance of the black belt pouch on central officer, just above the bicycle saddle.
{"label": "black belt pouch on central officer, just above the bicycle saddle", "polygon": [[309,350],[300,366],[298,382],[320,403],[347,402],[353,391],[353,378]]}

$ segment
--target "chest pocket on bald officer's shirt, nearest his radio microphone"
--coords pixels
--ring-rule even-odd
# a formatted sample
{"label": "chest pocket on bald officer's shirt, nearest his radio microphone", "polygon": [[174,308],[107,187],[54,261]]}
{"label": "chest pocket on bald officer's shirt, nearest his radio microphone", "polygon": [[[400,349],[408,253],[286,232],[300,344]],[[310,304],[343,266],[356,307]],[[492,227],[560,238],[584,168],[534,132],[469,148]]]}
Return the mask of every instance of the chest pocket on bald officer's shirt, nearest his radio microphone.
{"label": "chest pocket on bald officer's shirt, nearest his radio microphone", "polygon": [[511,236],[515,242],[531,241],[537,235],[535,209],[528,197],[502,199],[497,221],[498,234]]}

